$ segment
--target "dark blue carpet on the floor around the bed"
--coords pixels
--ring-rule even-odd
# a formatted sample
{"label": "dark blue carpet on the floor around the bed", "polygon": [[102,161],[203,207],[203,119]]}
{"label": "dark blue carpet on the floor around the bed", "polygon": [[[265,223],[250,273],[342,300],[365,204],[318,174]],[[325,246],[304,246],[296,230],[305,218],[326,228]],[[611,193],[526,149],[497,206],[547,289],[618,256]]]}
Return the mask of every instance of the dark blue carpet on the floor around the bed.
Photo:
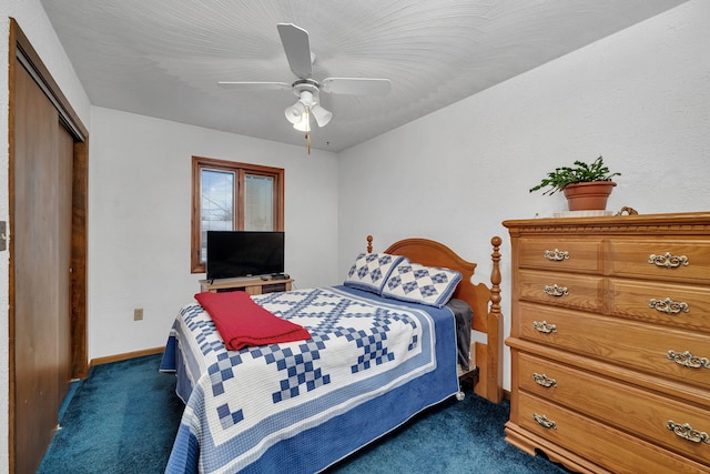
{"label": "dark blue carpet on the floor around the bed", "polygon": [[[175,377],[158,372],[161,355],[94,366],[72,384],[38,473],[162,473],[182,402]],[[567,473],[504,441],[509,405],[475,395],[429,409],[405,426],[332,466],[328,474]]]}

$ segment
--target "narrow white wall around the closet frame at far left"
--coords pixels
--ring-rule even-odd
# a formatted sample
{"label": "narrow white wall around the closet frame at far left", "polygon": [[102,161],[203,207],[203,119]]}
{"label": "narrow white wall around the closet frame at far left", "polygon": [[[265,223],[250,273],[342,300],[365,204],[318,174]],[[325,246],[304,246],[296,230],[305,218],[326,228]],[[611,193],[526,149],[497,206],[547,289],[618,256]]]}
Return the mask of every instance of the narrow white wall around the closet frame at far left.
{"label": "narrow white wall around the closet frame at far left", "polygon": [[[9,18],[14,18],[44,65],[60,85],[84,124],[89,122],[89,98],[64,53],[39,0],[0,1],[0,221],[9,221],[8,192],[8,56]],[[11,232],[11,230],[10,230]],[[9,304],[9,252],[0,253],[0,471],[8,470],[8,304]]]}

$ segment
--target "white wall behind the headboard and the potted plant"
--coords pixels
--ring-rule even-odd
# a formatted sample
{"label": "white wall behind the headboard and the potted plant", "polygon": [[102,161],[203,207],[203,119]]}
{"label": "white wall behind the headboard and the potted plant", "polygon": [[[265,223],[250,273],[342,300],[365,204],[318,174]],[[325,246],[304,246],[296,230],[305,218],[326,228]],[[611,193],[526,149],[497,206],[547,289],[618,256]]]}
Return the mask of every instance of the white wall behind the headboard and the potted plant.
{"label": "white wall behind the headboard and the potted plant", "polygon": [[708,31],[710,2],[694,0],[341,153],[341,273],[372,233],[376,250],[443,241],[487,281],[490,236],[504,236],[508,334],[500,223],[566,210],[528,193],[548,171],[601,154],[622,173],[608,209],[710,210]]}

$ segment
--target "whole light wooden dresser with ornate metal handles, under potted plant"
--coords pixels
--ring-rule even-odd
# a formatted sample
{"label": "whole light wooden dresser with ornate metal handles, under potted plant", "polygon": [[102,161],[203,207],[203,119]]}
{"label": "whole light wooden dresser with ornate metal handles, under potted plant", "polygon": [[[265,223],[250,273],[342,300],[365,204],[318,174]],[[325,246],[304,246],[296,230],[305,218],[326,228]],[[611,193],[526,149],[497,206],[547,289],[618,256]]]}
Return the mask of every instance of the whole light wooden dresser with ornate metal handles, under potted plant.
{"label": "whole light wooden dresser with ornate metal handles, under potted plant", "polygon": [[710,473],[710,212],[504,225],[506,441],[584,473]]}

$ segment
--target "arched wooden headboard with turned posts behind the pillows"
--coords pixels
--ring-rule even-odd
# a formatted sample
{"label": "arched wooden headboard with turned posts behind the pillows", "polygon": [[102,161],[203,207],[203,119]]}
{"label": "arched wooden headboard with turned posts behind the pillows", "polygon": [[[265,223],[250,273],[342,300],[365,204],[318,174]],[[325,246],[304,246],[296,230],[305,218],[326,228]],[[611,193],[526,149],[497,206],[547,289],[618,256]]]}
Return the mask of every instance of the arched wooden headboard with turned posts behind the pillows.
{"label": "arched wooden headboard with turned posts behind the pillows", "polygon": [[[367,235],[367,252],[373,251],[373,236]],[[443,266],[460,272],[462,281],[454,296],[466,301],[474,310],[474,331],[485,333],[487,342],[476,342],[475,355],[478,382],[474,392],[491,402],[503,400],[503,316],[500,314],[500,244],[499,236],[490,239],[493,271],[490,286],[474,284],[471,276],[476,264],[462,259],[443,243],[427,239],[405,239],[389,245],[384,252],[404,255],[414,263],[426,266]]]}

